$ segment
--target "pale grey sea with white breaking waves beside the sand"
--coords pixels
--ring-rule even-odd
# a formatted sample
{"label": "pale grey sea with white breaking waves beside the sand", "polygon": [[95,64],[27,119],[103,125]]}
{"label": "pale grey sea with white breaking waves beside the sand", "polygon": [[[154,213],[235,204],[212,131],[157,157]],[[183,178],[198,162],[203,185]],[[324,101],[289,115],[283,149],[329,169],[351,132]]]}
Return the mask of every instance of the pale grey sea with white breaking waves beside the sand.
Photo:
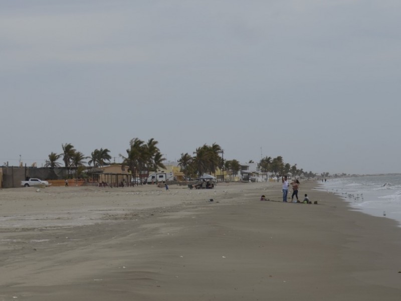
{"label": "pale grey sea with white breaking waves beside the sand", "polygon": [[328,179],[321,184],[321,190],[339,195],[355,210],[396,220],[401,226],[401,175]]}

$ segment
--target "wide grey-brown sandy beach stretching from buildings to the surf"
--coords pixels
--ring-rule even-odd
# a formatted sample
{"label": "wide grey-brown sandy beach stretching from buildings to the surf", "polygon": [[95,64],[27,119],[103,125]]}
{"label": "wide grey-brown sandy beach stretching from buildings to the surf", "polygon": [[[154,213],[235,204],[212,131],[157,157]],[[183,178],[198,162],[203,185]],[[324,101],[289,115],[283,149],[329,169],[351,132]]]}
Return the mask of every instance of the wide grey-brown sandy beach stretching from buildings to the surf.
{"label": "wide grey-brown sandy beach stretching from buildings to the surf", "polygon": [[401,300],[401,228],[318,185],[1,190],[0,301]]}

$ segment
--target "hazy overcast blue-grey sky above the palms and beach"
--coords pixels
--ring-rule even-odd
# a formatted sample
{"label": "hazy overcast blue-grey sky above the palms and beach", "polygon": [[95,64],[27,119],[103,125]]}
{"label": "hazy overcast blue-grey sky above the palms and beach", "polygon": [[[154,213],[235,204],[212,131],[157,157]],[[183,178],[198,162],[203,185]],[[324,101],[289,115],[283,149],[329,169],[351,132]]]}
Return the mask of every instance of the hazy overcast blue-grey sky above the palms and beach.
{"label": "hazy overcast blue-grey sky above the palms and beach", "polygon": [[[0,165],[72,143],[120,162],[282,156],[401,173],[398,0],[0,0]],[[114,159],[115,158],[115,159]]]}

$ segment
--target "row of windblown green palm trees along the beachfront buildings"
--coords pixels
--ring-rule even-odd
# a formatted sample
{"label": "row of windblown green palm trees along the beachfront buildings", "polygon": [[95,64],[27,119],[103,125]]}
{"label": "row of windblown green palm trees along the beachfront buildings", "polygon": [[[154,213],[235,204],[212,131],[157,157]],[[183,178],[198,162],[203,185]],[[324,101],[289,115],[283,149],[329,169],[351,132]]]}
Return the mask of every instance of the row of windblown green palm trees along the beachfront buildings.
{"label": "row of windblown green palm trees along the beachfront buildings", "polygon": [[[119,154],[121,164],[127,166],[133,175],[149,174],[150,171],[165,169],[163,155],[157,146],[158,141],[154,138],[147,142],[139,138],[133,138],[129,141],[129,147],[126,153]],[[62,144],[63,152],[60,154],[52,152],[46,161],[46,167],[61,167],[58,161],[62,159],[65,167],[73,167],[83,170],[85,165],[99,168],[110,164],[111,156],[108,148],[96,148],[91,156],[85,156],[82,152],[75,149],[71,143]],[[89,161],[86,161],[88,160]],[[249,163],[253,163],[251,160]],[[218,143],[212,145],[204,144],[195,149],[192,155],[181,153],[178,160],[178,166],[181,168],[185,178],[194,178],[203,174],[215,174],[217,169],[237,174],[241,170],[241,164],[238,160],[224,159],[224,150]],[[304,175],[305,177],[315,177],[312,172],[306,173],[303,169],[298,169],[297,165],[285,163],[283,157],[271,158],[266,156],[258,163],[261,172],[272,173],[273,175],[285,175],[291,173],[293,176]]]}

